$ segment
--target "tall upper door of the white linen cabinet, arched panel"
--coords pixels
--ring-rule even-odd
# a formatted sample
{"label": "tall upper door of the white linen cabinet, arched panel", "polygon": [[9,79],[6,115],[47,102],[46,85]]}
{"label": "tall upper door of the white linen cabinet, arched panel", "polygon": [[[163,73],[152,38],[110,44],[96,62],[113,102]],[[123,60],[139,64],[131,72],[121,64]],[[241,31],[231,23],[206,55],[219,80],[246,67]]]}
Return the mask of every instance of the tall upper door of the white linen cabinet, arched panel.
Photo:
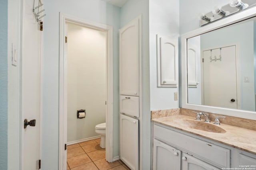
{"label": "tall upper door of the white linen cabinet, arched panel", "polygon": [[140,18],[119,31],[120,94],[139,96],[140,89]]}

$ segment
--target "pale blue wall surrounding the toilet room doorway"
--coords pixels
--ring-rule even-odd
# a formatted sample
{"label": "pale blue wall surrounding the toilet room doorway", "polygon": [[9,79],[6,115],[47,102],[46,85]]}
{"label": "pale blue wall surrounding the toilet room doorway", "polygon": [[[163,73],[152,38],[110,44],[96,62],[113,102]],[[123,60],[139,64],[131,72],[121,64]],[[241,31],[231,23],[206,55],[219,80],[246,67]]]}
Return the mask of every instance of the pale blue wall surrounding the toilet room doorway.
{"label": "pale blue wall surrounding the toilet room doorway", "polygon": [[[59,137],[59,12],[113,26],[114,152],[119,156],[118,29],[120,8],[101,0],[54,0],[44,2],[42,167],[58,169]],[[49,133],[51,132],[51,133]]]}

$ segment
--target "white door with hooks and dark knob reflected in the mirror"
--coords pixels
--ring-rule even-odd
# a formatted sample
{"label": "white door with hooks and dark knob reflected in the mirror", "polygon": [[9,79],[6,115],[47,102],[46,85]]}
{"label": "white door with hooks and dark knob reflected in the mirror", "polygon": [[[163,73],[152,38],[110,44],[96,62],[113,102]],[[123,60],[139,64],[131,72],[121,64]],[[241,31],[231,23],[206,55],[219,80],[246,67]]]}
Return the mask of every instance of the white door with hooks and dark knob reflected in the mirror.
{"label": "white door with hooks and dark knob reflected in the mirror", "polygon": [[203,51],[204,105],[237,109],[236,46]]}

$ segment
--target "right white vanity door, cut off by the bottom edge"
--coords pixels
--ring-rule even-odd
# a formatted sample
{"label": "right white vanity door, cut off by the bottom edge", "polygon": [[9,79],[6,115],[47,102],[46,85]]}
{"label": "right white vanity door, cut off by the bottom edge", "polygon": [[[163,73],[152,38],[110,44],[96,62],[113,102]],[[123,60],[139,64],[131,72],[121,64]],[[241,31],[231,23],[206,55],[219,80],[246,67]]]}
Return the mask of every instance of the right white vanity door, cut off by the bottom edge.
{"label": "right white vanity door, cut off by the bottom edge", "polygon": [[[209,153],[210,154],[210,153]],[[194,156],[182,153],[182,170],[220,170]]]}

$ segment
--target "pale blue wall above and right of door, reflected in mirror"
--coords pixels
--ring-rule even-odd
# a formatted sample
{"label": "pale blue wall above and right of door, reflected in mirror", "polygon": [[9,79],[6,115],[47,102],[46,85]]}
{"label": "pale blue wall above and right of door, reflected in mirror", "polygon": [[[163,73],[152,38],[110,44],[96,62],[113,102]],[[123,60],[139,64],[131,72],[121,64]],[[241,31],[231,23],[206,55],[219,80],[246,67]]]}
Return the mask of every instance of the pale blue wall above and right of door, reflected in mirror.
{"label": "pale blue wall above and right of door, reflected in mirror", "polygon": [[[240,88],[241,92],[241,98],[238,100],[241,101],[240,109],[251,111],[255,110],[253,26],[254,21],[250,21],[200,35],[202,50],[237,45],[237,88]],[[244,82],[245,76],[249,77],[250,82]]]}

